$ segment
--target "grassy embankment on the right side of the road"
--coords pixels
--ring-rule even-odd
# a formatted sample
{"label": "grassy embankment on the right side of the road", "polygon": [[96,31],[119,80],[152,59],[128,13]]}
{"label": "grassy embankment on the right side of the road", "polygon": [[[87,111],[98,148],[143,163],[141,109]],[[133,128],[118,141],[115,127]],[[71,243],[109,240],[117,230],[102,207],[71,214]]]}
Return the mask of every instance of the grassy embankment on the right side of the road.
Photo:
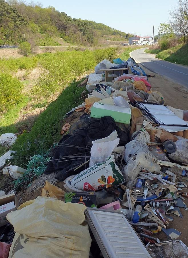
{"label": "grassy embankment on the right side of the road", "polygon": [[161,50],[146,49],[145,52],[156,54],[156,58],[177,64],[188,65],[188,44],[179,44],[175,47]]}

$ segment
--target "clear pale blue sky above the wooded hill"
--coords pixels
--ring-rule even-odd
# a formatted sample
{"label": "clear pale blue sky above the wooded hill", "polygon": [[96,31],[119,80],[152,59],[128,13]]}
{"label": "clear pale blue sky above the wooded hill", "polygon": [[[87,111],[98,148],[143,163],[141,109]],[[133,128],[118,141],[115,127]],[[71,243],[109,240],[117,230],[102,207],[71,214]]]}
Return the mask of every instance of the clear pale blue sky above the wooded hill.
{"label": "clear pale blue sky above the wooded hill", "polygon": [[[158,34],[161,22],[169,20],[169,9],[177,0],[38,0],[43,7],[53,5],[72,18],[81,18],[104,23],[121,31],[149,36]],[[29,1],[27,1],[29,2]]]}

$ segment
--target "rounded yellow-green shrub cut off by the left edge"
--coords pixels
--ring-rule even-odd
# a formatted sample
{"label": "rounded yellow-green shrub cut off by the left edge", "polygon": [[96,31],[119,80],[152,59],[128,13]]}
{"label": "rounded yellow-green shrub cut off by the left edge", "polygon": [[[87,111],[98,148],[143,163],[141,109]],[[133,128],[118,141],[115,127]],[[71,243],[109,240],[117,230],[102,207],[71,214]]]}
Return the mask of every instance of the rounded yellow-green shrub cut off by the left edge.
{"label": "rounded yellow-green shrub cut off by the left edge", "polygon": [[0,73],[0,112],[21,101],[22,84],[9,74]]}

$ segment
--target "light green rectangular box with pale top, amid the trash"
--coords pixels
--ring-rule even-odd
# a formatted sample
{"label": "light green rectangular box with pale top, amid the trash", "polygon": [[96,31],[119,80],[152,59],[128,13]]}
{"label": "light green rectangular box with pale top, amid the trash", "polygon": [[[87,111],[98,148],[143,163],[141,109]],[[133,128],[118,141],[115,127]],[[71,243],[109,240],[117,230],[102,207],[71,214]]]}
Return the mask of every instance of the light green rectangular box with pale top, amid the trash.
{"label": "light green rectangular box with pale top, amid the trash", "polygon": [[91,117],[101,118],[105,116],[113,117],[115,122],[129,124],[131,119],[131,109],[95,102],[91,107]]}

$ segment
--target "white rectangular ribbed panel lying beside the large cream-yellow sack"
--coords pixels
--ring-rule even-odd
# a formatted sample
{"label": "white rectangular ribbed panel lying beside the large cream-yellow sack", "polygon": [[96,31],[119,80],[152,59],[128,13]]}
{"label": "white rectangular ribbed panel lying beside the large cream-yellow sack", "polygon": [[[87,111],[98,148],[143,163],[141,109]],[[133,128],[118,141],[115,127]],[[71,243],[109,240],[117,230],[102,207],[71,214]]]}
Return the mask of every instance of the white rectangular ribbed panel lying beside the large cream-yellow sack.
{"label": "white rectangular ribbed panel lying beside the large cream-yellow sack", "polygon": [[151,258],[123,214],[98,209],[87,209],[87,212],[107,251],[105,257]]}

